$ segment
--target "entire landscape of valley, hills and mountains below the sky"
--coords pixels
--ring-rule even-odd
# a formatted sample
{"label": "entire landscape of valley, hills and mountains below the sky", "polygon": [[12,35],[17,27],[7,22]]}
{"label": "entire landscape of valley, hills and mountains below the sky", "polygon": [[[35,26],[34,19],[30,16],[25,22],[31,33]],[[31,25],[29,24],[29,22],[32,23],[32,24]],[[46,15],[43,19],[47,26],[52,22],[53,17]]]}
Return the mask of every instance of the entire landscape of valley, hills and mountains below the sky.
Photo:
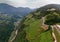
{"label": "entire landscape of valley, hills and mountains below the sky", "polygon": [[60,5],[30,9],[1,3],[0,42],[60,42]]}

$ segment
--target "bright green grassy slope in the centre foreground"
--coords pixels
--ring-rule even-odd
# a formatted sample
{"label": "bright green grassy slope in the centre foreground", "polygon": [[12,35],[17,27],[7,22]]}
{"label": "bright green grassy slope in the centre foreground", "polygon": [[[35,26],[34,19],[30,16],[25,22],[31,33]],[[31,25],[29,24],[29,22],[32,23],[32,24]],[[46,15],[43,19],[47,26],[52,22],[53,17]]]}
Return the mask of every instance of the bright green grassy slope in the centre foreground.
{"label": "bright green grassy slope in the centre foreground", "polygon": [[44,30],[41,28],[41,24],[42,19],[38,19],[34,20],[32,23],[30,23],[30,26],[25,28],[27,32],[26,37],[30,42],[52,42],[52,36],[50,34],[50,31],[44,32]]}

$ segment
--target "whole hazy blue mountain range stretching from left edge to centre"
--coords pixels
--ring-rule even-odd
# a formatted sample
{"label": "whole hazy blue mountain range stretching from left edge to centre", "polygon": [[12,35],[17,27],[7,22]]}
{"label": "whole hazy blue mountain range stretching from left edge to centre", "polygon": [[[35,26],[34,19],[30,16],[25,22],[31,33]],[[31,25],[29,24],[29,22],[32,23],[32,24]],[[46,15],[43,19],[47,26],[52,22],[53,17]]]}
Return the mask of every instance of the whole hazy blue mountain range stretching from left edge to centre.
{"label": "whole hazy blue mountain range stretching from left edge to centre", "polygon": [[6,14],[19,14],[19,15],[26,15],[27,13],[31,12],[30,8],[23,8],[23,7],[13,7],[11,5],[0,3],[0,13]]}

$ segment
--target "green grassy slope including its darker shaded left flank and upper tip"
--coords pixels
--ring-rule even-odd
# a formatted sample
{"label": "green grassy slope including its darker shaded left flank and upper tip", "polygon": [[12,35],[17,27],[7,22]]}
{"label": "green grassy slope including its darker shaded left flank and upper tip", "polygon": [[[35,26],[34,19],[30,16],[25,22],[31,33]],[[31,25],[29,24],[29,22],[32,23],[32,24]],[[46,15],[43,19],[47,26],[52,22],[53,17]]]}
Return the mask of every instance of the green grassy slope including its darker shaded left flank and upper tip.
{"label": "green grassy slope including its darker shaded left flank and upper tip", "polygon": [[50,30],[44,31],[41,28],[42,19],[37,19],[30,14],[23,24],[26,25],[23,29],[25,36],[23,31],[19,31],[14,42],[53,42]]}

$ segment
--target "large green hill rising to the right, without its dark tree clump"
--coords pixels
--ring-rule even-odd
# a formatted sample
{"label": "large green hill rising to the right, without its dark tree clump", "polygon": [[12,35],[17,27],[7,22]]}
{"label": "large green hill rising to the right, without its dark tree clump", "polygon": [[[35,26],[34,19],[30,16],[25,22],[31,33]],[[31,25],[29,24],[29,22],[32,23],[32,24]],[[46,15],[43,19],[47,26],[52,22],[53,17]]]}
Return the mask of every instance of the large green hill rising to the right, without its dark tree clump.
{"label": "large green hill rising to the right, without its dark tree clump", "polygon": [[[51,27],[48,27],[49,29],[47,29],[47,27],[43,26],[43,17],[46,17],[48,14],[52,15],[54,12],[60,14],[59,9],[57,9],[59,7],[60,5],[49,4],[28,14],[25,17],[22,26],[19,27],[20,29],[18,31],[17,37],[13,42],[54,42]],[[49,12],[48,10],[53,11]],[[58,37],[57,35],[56,37]]]}

